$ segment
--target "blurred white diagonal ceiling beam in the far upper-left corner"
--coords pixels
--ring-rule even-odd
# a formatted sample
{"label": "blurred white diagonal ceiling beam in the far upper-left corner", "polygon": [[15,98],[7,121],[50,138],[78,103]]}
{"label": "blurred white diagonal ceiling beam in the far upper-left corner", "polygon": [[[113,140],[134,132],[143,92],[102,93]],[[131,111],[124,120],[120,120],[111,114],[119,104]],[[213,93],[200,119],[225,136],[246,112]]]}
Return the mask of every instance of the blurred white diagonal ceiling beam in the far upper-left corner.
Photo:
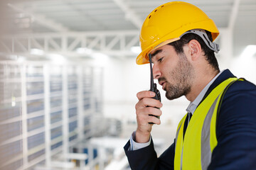
{"label": "blurred white diagonal ceiling beam in the far upper-left corner", "polygon": [[54,31],[58,31],[58,32],[67,32],[67,31],[69,31],[69,29],[66,28],[65,26],[63,26],[60,23],[57,23],[57,22],[55,22],[55,21],[53,21],[49,18],[46,18],[46,16],[38,15],[36,13],[28,11],[27,9],[24,10],[22,7],[14,6],[13,4],[8,4],[8,6],[10,8],[14,9],[14,11],[16,11],[16,12],[23,13],[27,16],[30,16],[31,18],[33,18],[34,21],[39,23],[41,26],[44,26],[46,28],[50,28],[50,30],[54,30]]}

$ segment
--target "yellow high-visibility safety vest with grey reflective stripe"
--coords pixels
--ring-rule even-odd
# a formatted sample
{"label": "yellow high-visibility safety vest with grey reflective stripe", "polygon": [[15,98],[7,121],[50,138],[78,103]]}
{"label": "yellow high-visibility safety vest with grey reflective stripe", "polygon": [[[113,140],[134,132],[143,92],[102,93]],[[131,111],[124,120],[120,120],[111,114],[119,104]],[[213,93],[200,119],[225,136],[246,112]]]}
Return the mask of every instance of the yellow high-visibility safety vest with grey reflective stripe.
{"label": "yellow high-visibility safety vest with grey reflective stripe", "polygon": [[220,98],[224,89],[236,80],[238,79],[227,79],[208,94],[193,113],[184,137],[187,114],[181,119],[176,132],[174,170],[207,169],[213,149],[218,143],[215,130]]}

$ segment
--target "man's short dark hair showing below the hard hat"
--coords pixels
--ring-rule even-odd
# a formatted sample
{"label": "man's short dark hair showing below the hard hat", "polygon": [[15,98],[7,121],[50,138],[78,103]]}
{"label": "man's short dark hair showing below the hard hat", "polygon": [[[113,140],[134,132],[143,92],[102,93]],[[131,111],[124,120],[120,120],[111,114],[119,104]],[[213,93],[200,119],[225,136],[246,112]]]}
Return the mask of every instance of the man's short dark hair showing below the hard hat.
{"label": "man's short dark hair showing below the hard hat", "polygon": [[[206,30],[206,34],[208,35],[208,38],[210,41],[213,41],[212,35],[209,31]],[[194,33],[187,33],[181,37],[180,40],[174,41],[169,43],[169,45],[174,47],[174,50],[180,54],[183,53],[183,46],[186,45],[191,40],[197,40],[201,44],[201,48],[203,52],[205,52],[206,60],[209,64],[213,66],[215,70],[220,72],[220,69],[218,67],[218,61],[214,55],[213,50],[210,50],[210,48],[206,45],[206,43],[203,41],[203,39]]]}

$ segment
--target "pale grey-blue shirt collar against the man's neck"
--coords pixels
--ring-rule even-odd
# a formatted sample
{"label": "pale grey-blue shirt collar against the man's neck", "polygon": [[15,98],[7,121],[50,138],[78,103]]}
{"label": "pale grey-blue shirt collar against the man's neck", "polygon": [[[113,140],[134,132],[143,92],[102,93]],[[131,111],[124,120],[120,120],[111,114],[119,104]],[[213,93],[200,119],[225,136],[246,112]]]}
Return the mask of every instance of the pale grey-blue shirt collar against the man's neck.
{"label": "pale grey-blue shirt collar against the man's neck", "polygon": [[[223,70],[224,71],[224,70]],[[191,103],[189,103],[188,108],[186,108],[186,111],[188,113],[194,113],[196,111],[196,108],[198,106],[198,104],[201,102],[201,100],[203,99],[203,96],[205,96],[206,91],[209,89],[210,85],[213,84],[213,81],[215,81],[215,79],[218,78],[218,76],[220,76],[220,74],[223,72],[219,72],[204,88],[203,90],[200,92],[200,94],[196,97],[196,99],[194,101],[192,101]]]}

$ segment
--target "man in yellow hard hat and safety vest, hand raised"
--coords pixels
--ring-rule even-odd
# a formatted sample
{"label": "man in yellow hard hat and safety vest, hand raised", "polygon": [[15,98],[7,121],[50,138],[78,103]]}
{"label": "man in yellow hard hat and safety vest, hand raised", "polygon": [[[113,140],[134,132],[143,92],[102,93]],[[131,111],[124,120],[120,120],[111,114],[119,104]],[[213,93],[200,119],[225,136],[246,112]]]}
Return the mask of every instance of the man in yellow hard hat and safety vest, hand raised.
{"label": "man in yellow hard hat and safety vest, hand raised", "polygon": [[166,98],[191,103],[174,144],[158,158],[150,123],[161,123],[162,104],[154,92],[137,94],[137,130],[124,146],[132,169],[256,169],[256,86],[220,72],[218,34],[203,11],[185,2],[159,6],[144,21],[137,64],[151,57]]}

